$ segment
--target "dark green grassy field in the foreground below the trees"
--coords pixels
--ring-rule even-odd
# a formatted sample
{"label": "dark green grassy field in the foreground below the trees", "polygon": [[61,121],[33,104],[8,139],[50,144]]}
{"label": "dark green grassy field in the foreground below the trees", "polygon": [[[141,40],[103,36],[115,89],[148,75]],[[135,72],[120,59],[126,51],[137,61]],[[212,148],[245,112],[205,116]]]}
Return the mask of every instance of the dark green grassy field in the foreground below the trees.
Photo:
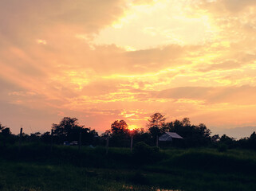
{"label": "dark green grassy field in the foreground below the trees", "polygon": [[255,190],[251,150],[170,149],[136,158],[126,148],[23,145],[1,150],[0,190]]}

